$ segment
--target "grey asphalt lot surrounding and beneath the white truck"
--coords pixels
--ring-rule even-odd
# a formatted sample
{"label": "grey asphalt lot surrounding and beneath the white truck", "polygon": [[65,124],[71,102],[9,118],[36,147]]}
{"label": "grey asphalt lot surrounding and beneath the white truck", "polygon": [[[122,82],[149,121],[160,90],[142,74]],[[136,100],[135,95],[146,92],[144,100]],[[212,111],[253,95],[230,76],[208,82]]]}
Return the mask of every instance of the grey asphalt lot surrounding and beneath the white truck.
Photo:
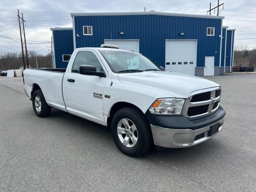
{"label": "grey asphalt lot surrounding and beneath the white truck", "polygon": [[222,131],[185,149],[122,154],[108,128],[53,109],[34,114],[22,78],[0,78],[0,191],[256,191],[256,74],[222,86]]}

